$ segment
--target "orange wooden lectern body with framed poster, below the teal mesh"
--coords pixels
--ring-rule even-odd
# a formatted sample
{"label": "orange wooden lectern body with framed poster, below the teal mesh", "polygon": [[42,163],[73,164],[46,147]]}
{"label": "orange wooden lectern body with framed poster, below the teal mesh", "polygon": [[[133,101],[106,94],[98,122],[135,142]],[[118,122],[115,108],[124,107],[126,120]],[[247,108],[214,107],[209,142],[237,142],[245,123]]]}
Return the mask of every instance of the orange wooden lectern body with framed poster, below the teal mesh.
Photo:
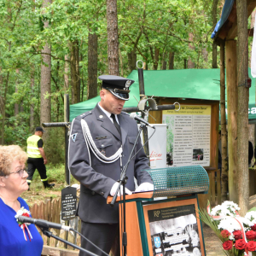
{"label": "orange wooden lectern body with framed poster, below the teal mesh", "polygon": [[[127,255],[206,256],[197,195],[157,200],[152,196],[153,192],[126,195]],[[108,203],[111,199],[108,198]],[[117,202],[122,250],[123,204],[120,197]]]}

